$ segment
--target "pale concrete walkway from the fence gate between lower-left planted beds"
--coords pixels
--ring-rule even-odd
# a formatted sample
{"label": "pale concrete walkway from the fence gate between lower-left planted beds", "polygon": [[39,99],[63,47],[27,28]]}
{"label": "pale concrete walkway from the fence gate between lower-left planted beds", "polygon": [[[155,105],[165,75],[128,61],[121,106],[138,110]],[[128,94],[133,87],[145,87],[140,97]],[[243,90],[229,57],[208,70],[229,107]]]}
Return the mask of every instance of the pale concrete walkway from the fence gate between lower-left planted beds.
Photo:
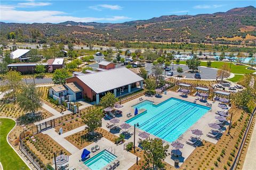
{"label": "pale concrete walkway from the fence gate between lower-left planted beds", "polygon": [[[77,147],[72,145],[69,141],[65,139],[65,135],[59,135],[57,132],[55,132],[55,129],[49,129],[47,131],[42,132],[43,134],[49,135],[53,140],[55,140],[59,145],[61,145],[63,148],[65,148],[70,154],[75,154],[79,151]],[[73,132],[75,133],[75,132]]]}

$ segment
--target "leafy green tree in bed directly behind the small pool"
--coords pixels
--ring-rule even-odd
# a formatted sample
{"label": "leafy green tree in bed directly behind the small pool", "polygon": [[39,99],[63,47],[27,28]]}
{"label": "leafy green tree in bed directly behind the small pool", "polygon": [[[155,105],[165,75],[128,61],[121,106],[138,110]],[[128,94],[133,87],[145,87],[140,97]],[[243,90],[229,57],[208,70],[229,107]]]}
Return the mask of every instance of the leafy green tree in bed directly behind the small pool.
{"label": "leafy green tree in bed directly behind the small pool", "polygon": [[82,117],[84,124],[88,126],[89,133],[92,134],[95,129],[101,126],[102,117],[101,108],[93,109]]}

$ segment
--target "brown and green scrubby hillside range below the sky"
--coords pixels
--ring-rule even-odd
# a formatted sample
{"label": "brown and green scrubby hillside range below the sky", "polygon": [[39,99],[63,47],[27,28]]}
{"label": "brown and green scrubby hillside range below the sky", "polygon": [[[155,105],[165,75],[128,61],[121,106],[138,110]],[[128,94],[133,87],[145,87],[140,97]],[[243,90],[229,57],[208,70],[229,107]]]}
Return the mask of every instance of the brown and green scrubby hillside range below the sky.
{"label": "brown and green scrubby hillside range below the sky", "polygon": [[164,15],[149,20],[123,23],[97,23],[66,21],[51,23],[4,23],[1,22],[1,36],[11,31],[22,30],[29,35],[31,28],[38,29],[42,39],[56,39],[59,36],[81,41],[156,41],[255,44],[256,8],[253,6],[233,8],[227,12],[198,15]]}

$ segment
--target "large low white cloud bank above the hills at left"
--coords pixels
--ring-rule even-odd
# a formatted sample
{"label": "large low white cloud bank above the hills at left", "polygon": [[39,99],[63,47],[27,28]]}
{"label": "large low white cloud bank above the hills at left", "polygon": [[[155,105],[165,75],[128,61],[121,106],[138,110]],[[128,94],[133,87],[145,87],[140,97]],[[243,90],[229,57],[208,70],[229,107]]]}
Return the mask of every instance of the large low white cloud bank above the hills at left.
{"label": "large low white cloud bank above the hills at left", "polygon": [[22,11],[16,10],[13,6],[0,6],[0,20],[7,22],[19,22],[19,23],[59,23],[65,21],[75,21],[75,22],[97,22],[97,21],[120,21],[131,19],[127,16],[112,16],[112,17],[75,17],[68,16],[62,11]]}

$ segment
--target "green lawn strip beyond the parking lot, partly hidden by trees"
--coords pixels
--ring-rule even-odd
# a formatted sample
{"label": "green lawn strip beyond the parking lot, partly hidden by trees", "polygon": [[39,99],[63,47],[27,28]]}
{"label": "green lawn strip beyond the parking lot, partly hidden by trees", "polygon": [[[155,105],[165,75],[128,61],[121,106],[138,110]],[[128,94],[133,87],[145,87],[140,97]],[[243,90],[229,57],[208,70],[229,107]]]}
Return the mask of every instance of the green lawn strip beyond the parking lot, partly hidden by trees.
{"label": "green lawn strip beyond the parking lot, partly hidden by trees", "polygon": [[[220,69],[221,66],[223,64],[225,64],[225,63],[230,65],[230,63],[228,63],[228,62],[212,62],[211,67],[212,68],[216,68],[216,69]],[[186,61],[180,61],[180,64],[186,64]],[[207,62],[201,62],[200,65],[201,66],[207,66]],[[232,64],[231,65],[231,73],[235,73],[235,74],[249,74],[249,73],[255,72],[254,70],[247,70],[246,67],[247,67],[246,65],[235,65],[235,64]]]}

